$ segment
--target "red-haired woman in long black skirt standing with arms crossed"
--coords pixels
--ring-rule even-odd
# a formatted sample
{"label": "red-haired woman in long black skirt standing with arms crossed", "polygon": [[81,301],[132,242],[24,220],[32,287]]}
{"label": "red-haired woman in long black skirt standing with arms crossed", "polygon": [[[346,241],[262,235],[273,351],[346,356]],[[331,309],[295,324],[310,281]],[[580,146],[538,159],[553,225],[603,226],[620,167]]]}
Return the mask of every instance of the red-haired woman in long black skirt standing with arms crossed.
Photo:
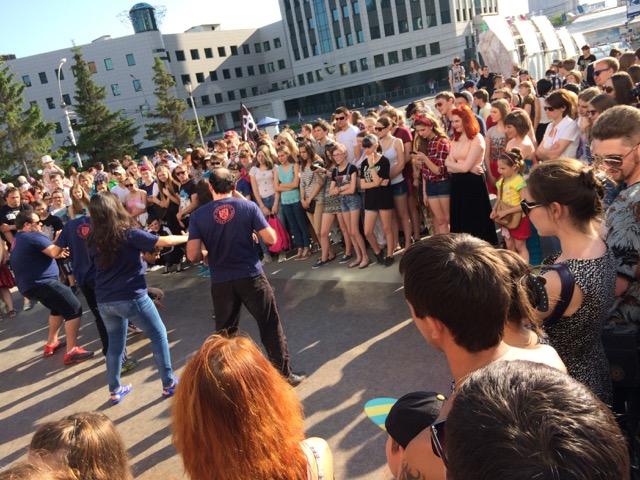
{"label": "red-haired woman in long black skirt standing with arms crossed", "polygon": [[496,245],[495,224],[484,178],[486,145],[480,125],[467,105],[451,111],[453,141],[445,165],[451,175],[451,232],[469,233]]}

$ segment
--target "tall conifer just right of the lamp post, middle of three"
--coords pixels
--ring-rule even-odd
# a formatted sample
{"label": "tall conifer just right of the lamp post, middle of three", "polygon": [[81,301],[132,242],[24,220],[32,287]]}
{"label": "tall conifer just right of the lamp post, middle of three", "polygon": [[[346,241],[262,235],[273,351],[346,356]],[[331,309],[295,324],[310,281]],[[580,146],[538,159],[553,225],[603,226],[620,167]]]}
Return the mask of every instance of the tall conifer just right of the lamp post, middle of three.
{"label": "tall conifer just right of the lamp post, middle of three", "polygon": [[121,111],[112,112],[104,104],[105,88],[96,85],[80,48],[74,49],[76,77],[75,111],[78,116],[78,151],[89,155],[93,162],[109,162],[122,155],[135,155],[140,143],[135,143],[138,127],[135,120]]}

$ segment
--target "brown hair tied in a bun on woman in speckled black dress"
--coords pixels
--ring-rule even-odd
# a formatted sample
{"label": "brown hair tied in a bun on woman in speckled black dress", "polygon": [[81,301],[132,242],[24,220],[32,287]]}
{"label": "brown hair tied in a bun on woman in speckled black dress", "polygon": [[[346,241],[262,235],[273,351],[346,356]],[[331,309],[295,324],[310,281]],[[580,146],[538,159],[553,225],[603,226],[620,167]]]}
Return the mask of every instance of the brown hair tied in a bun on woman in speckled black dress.
{"label": "brown hair tied in a bun on woman in speckled black dress", "polygon": [[561,158],[538,163],[529,174],[527,187],[543,207],[566,206],[570,220],[583,228],[602,214],[603,188],[592,167],[579,160]]}

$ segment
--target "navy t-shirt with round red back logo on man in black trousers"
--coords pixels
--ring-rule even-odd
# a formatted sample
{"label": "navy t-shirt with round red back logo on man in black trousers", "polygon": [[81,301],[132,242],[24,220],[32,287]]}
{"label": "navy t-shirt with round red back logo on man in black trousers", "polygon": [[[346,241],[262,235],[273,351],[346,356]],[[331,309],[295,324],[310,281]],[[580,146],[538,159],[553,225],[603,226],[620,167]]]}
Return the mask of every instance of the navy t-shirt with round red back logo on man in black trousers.
{"label": "navy t-shirt with round red back logo on man in black trousers", "polygon": [[213,283],[239,280],[262,273],[252,234],[268,226],[255,203],[225,198],[191,214],[189,240],[204,243]]}

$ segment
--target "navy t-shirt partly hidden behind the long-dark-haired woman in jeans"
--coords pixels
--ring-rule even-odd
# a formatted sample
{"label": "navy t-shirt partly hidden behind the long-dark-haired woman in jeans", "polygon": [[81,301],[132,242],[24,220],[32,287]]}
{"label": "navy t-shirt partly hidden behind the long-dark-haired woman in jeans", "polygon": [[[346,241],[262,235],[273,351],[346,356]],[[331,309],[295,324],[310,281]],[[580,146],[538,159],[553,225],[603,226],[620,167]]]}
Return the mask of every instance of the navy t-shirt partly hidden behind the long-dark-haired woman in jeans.
{"label": "navy t-shirt partly hidden behind the long-dark-haired woman in jeans", "polygon": [[95,280],[96,269],[89,256],[87,238],[91,233],[91,219],[82,215],[69,220],[62,228],[56,245],[71,249],[71,267],[78,284]]}

